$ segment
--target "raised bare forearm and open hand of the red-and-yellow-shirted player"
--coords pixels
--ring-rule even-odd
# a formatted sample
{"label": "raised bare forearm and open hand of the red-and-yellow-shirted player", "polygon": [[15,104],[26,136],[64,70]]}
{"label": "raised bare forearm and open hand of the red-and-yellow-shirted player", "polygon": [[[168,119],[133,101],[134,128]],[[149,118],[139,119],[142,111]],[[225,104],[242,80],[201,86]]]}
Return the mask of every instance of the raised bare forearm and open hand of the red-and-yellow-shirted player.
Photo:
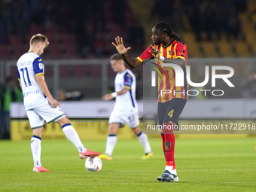
{"label": "raised bare forearm and open hand of the red-and-yellow-shirted player", "polygon": [[116,44],[114,44],[113,42],[112,44],[114,45],[114,47],[116,47],[118,53],[123,57],[124,62],[126,62],[126,64],[130,66],[131,69],[142,66],[142,62],[140,62],[138,59],[132,59],[130,56],[127,55],[127,52],[131,49],[131,47],[124,47],[122,37],[117,36],[117,38],[115,38],[115,41]]}

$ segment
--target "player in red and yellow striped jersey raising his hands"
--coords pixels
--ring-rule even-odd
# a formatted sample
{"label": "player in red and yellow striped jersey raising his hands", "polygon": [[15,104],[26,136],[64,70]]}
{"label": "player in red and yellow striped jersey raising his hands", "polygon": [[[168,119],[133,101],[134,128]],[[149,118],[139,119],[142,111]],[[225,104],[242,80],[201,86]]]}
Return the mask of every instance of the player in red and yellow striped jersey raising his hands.
{"label": "player in red and yellow striped jersey raising his hands", "polygon": [[[166,168],[163,175],[157,177],[158,181],[178,181],[178,176],[175,168],[174,148],[175,136],[173,130],[178,130],[178,117],[187,102],[187,44],[181,41],[169,23],[162,21],[157,23],[152,29],[153,35],[151,39],[154,45],[150,45],[141,56],[132,59],[127,55],[131,47],[124,47],[123,38],[117,36],[115,38],[118,53],[123,57],[123,60],[132,69],[142,66],[147,59],[154,58],[159,66],[162,63],[174,63],[183,69],[184,86],[175,86],[175,70],[172,67],[163,67],[166,76],[158,78],[158,123],[162,125],[163,132],[161,133],[163,152],[166,158]],[[165,90],[165,91],[163,91]],[[168,91],[167,91],[168,90]],[[172,129],[169,129],[169,128]]]}

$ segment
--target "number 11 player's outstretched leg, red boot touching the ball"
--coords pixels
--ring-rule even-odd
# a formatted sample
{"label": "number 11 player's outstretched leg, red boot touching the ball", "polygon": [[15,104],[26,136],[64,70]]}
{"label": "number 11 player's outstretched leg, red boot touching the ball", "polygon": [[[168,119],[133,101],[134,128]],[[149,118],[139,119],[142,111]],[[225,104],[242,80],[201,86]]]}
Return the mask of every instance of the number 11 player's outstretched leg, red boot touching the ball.
{"label": "number 11 player's outstretched leg, red boot touching the ball", "polygon": [[87,150],[86,148],[84,148],[84,145],[82,144],[78,136],[78,133],[75,131],[74,127],[70,123],[70,120],[66,116],[57,120],[57,123],[59,123],[59,125],[62,126],[62,131],[64,132],[67,139],[69,139],[69,141],[71,141],[75,145],[75,147],[78,149],[79,157],[81,159],[86,159],[87,157],[95,157],[101,154],[99,152],[94,152],[94,151],[91,151],[90,149]]}

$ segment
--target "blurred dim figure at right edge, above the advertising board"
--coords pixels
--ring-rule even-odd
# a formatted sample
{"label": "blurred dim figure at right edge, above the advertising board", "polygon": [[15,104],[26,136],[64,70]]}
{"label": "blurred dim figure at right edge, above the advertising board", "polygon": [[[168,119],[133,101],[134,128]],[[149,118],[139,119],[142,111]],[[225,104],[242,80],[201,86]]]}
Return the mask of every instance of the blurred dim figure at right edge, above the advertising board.
{"label": "blurred dim figure at right edge, above the advertising board", "polygon": [[250,72],[248,75],[248,82],[242,88],[243,98],[255,98],[256,97],[256,72]]}

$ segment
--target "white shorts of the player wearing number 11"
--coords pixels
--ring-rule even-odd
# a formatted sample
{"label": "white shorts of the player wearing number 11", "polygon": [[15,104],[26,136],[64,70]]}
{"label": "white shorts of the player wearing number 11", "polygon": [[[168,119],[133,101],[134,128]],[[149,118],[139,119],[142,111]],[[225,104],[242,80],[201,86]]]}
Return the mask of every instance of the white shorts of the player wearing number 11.
{"label": "white shorts of the player wearing number 11", "polygon": [[44,120],[50,123],[58,121],[65,116],[59,107],[52,108],[50,105],[29,109],[26,111],[26,114],[29,117],[29,123],[32,129],[44,126]]}

